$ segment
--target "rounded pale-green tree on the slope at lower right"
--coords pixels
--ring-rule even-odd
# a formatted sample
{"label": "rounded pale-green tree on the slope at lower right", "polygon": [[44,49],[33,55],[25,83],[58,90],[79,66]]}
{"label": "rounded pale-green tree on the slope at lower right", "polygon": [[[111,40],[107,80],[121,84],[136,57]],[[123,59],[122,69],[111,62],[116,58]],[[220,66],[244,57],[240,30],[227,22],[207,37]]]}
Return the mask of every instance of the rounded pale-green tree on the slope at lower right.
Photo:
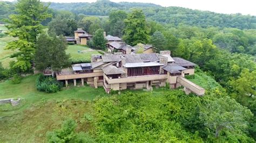
{"label": "rounded pale-green tree on the slope at lower right", "polygon": [[205,106],[205,125],[214,131],[218,138],[222,131],[240,134],[248,128],[251,111],[230,97],[215,98]]}

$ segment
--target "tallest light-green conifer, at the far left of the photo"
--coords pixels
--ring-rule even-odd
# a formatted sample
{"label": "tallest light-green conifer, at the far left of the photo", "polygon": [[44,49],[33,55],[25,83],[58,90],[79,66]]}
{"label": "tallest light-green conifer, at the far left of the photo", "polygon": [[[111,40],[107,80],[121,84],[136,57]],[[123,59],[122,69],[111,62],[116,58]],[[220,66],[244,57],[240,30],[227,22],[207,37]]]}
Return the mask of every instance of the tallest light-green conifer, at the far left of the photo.
{"label": "tallest light-green conifer, at the far left of the photo", "polygon": [[14,67],[22,71],[31,68],[35,53],[36,37],[43,32],[42,22],[51,15],[47,13],[49,4],[45,5],[38,0],[19,0],[15,6],[15,15],[10,15],[6,27],[8,34],[18,37],[18,40],[9,42],[7,49],[18,49],[13,56],[17,58]]}

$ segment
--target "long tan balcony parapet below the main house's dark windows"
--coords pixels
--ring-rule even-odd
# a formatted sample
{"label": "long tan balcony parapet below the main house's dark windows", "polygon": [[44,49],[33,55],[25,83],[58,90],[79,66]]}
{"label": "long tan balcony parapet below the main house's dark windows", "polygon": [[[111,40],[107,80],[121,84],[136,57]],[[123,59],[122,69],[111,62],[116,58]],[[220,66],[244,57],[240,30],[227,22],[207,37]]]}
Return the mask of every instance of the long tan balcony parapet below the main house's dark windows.
{"label": "long tan balcony parapet below the main house's dark windows", "polygon": [[157,81],[157,80],[166,80],[166,74],[158,74],[158,75],[145,75],[145,76],[129,76],[129,77],[120,77],[110,79],[106,75],[104,75],[105,80],[109,84],[114,83],[132,83],[132,82],[142,82],[142,81]]}

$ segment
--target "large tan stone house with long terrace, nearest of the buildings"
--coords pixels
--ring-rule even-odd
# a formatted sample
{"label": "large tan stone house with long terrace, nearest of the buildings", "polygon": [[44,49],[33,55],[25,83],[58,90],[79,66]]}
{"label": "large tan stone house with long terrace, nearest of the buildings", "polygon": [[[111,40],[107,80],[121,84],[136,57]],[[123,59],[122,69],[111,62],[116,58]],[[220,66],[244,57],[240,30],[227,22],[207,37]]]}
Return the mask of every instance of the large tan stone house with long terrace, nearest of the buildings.
{"label": "large tan stone house with long terrace, nearest of the buildings", "polygon": [[186,93],[203,95],[203,88],[184,78],[185,74],[194,74],[196,64],[172,58],[170,53],[92,55],[91,63],[72,65],[72,68],[57,73],[56,77],[59,81],[65,81],[66,86],[68,80],[73,80],[74,85],[78,80],[82,85],[86,82],[95,88],[104,87],[106,92],[127,88],[150,89],[152,86],[164,87],[169,83],[170,88],[183,85]]}

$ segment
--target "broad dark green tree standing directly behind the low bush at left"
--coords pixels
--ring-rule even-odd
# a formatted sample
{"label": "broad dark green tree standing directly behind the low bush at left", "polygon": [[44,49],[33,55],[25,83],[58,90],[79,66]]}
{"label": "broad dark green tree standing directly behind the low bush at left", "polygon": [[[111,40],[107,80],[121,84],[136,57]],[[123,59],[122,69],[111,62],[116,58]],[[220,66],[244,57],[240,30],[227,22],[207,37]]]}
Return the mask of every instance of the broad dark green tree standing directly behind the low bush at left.
{"label": "broad dark green tree standing directly behind the low bush at left", "polygon": [[39,35],[36,43],[36,68],[41,71],[46,68],[59,71],[69,66],[69,55],[65,52],[66,48],[66,39],[62,35],[59,37]]}

